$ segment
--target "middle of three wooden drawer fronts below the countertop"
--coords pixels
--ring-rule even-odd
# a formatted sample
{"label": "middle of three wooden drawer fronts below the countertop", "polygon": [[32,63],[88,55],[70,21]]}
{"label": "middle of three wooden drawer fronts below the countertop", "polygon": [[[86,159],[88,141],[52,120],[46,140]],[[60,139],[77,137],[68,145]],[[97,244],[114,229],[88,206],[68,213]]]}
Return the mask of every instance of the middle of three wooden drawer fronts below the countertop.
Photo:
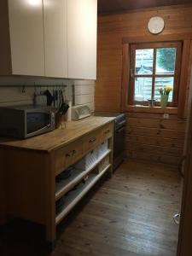
{"label": "middle of three wooden drawer fronts below the countertop", "polygon": [[84,154],[96,148],[101,143],[101,129],[90,132],[90,134],[84,136],[83,151]]}

